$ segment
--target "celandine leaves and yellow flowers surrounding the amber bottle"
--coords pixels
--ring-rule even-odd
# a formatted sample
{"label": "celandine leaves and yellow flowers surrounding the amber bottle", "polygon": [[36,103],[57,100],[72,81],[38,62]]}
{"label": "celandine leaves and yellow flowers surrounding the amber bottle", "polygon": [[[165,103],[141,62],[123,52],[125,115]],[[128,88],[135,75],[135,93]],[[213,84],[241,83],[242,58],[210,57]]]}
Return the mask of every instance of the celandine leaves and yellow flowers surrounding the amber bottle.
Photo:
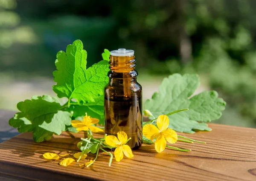
{"label": "celandine leaves and yellow flowers surrounding the amber bottle", "polygon": [[[102,53],[103,60],[87,68],[87,52],[83,49],[82,42],[76,40],[67,46],[66,52],[60,51],[56,57],[57,70],[53,72],[56,84],[52,89],[58,98],[65,97],[68,101],[61,105],[58,98],[49,95],[33,96],[31,100],[17,104],[20,112],[9,120],[9,124],[19,132],[32,132],[36,142],[49,140],[53,134],[60,135],[62,131],[87,132],[87,138],[81,138],[78,144],[81,152],[73,157],[80,161],[88,153],[92,153],[96,154],[96,158],[81,164],[81,167],[93,164],[99,150],[110,155],[109,165],[113,155],[108,149],[115,150],[116,161],[122,160],[123,155],[133,157],[131,148],[127,145],[130,138],[124,132],[119,132],[117,137],[93,137],[93,132],[103,131],[94,125],[104,125],[103,89],[109,81],[110,52],[105,49]],[[175,132],[210,131],[207,122],[221,117],[225,101],[218,98],[215,91],[204,91],[192,96],[198,86],[199,76],[195,74],[174,74],[164,78],[159,92],[155,92],[144,105],[144,115],[151,120],[143,124],[144,143],[154,144],[157,152],[162,152],[166,147],[190,151],[166,145],[166,142],[204,143],[179,136]],[[63,166],[75,161],[70,155],[44,154],[47,159],[57,160],[60,157],[69,157],[60,162]]]}

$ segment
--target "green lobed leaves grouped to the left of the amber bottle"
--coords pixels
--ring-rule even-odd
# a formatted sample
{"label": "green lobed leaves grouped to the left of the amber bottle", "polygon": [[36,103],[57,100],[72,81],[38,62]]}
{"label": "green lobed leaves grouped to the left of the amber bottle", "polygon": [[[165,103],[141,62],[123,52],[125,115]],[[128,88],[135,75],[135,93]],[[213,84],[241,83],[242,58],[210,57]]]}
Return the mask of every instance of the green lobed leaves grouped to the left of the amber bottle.
{"label": "green lobed leaves grouped to the left of the amber bottle", "polygon": [[17,104],[20,112],[9,124],[19,132],[33,132],[37,142],[49,140],[53,133],[60,135],[64,130],[77,132],[70,126],[71,117],[81,119],[85,112],[104,124],[103,88],[108,83],[109,64],[102,60],[86,69],[86,57],[80,40],[68,45],[66,53],[57,54],[57,71],[53,72],[57,84],[52,89],[59,98],[68,98],[67,103],[61,106],[57,98],[33,96],[32,100]]}

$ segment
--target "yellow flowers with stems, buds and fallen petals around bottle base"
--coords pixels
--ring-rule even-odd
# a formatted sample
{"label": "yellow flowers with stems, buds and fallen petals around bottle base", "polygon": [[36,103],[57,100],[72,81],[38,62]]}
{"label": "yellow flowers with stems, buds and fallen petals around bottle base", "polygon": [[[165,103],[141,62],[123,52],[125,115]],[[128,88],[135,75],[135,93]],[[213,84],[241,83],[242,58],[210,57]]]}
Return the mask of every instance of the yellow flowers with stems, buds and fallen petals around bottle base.
{"label": "yellow flowers with stems, buds and fallen petals around bottle base", "polygon": [[[175,112],[171,112],[167,115],[174,114],[176,112],[180,112],[183,110],[187,109],[181,109]],[[145,115],[153,116],[151,112],[146,110],[144,112]],[[154,118],[151,121],[148,121],[144,123],[143,126],[143,141],[144,143],[148,144],[154,144],[154,148],[157,152],[163,152],[163,150],[166,147],[176,149],[179,151],[191,151],[190,149],[180,149],[177,147],[172,147],[169,145],[166,145],[167,142],[170,144],[174,144],[177,141],[183,141],[183,142],[188,142],[188,143],[193,143],[192,139],[179,136],[177,133],[169,128],[169,118],[167,115],[160,115],[158,118]],[[155,126],[153,123],[154,121],[157,120],[157,123]],[[79,121],[79,120],[73,120],[71,121],[71,124],[73,127],[76,128],[78,131],[86,131],[87,132],[87,138],[81,138],[81,141],[77,144],[77,147],[81,150],[81,152],[77,152],[73,154],[73,157],[77,159],[77,162],[79,162],[81,159],[87,158],[88,153],[95,154],[96,157],[84,164],[80,164],[80,167],[89,167],[92,165],[96,159],[98,158],[99,155],[99,150],[102,150],[103,152],[106,152],[108,155],[110,155],[109,159],[109,166],[111,166],[113,155],[111,152],[106,151],[105,149],[114,149],[114,156],[116,161],[121,161],[124,155],[128,158],[134,157],[131,148],[127,145],[128,141],[131,138],[128,138],[127,134],[125,132],[118,132],[117,137],[114,135],[106,135],[104,138],[94,138],[93,137],[93,132],[103,132],[102,129],[100,129],[97,126],[94,126],[99,122],[98,119],[96,118],[91,118],[90,116],[86,115],[84,118]],[[184,139],[178,139],[179,138],[184,138]],[[198,143],[205,143],[201,141],[195,141]],[[50,159],[50,160],[59,160],[60,157],[66,157],[70,156],[70,153],[64,154],[64,155],[57,155],[55,153],[45,153],[44,158]],[[59,162],[61,166],[68,166],[70,165],[73,161],[75,161],[73,158],[64,158]]]}

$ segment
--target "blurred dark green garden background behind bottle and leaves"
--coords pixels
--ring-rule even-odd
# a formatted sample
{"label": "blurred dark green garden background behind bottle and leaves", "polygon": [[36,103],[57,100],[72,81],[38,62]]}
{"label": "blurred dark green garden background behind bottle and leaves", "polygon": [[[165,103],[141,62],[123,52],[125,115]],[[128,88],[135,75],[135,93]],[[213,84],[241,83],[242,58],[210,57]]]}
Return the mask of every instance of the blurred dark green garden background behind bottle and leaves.
{"label": "blurred dark green garden background behind bottle and leaves", "polygon": [[89,66],[133,49],[144,99],[173,73],[227,101],[222,124],[256,127],[256,0],[0,0],[0,109],[54,95],[55,57],[80,39]]}

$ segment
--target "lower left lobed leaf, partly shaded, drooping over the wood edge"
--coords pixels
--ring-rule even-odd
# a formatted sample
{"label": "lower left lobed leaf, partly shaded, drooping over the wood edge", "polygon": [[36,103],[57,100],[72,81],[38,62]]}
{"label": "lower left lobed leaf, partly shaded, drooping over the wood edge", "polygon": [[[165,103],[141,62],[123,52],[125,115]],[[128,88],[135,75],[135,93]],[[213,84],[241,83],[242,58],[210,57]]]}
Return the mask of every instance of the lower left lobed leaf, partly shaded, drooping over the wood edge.
{"label": "lower left lobed leaf, partly shaded, drooping over the wood edge", "polygon": [[60,135],[65,126],[71,124],[70,112],[61,110],[57,98],[49,95],[33,96],[17,104],[20,112],[9,120],[10,126],[19,132],[33,132],[34,140],[49,140],[52,134]]}

